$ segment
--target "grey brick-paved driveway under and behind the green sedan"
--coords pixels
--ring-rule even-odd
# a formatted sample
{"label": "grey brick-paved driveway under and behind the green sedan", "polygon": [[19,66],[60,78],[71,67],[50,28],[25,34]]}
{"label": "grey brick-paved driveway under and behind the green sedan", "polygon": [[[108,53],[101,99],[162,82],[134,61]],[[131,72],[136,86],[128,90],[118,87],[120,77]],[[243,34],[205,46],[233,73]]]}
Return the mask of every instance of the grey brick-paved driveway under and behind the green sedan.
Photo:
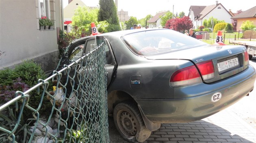
{"label": "grey brick-paved driveway under and behind the green sedan", "polygon": [[[256,68],[256,57],[250,60]],[[256,87],[256,84],[254,84]],[[128,143],[109,120],[110,143]],[[256,143],[256,88],[219,113],[195,122],[162,124],[144,143]]]}

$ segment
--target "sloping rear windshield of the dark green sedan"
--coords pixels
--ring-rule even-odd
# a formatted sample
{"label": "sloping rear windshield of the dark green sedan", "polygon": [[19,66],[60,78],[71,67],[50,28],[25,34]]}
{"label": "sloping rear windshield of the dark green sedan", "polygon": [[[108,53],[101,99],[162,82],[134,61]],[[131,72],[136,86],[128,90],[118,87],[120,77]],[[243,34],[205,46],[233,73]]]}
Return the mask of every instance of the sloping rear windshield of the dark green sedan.
{"label": "sloping rear windshield of the dark green sedan", "polygon": [[134,53],[141,56],[165,54],[184,48],[208,45],[170,29],[135,32],[123,36],[122,40]]}

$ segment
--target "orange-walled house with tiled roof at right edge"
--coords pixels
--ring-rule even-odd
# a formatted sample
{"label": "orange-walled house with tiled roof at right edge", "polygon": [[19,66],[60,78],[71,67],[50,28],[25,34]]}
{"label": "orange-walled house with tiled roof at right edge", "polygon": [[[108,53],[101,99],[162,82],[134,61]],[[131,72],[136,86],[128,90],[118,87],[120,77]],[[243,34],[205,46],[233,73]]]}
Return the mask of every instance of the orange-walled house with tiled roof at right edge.
{"label": "orange-walled house with tiled roof at right edge", "polygon": [[256,6],[253,8],[248,9],[247,11],[243,11],[242,13],[239,13],[238,15],[235,15],[231,17],[233,20],[237,20],[237,25],[236,25],[236,30],[237,31],[242,31],[240,28],[241,25],[243,24],[243,21],[253,21],[254,24],[256,25]]}

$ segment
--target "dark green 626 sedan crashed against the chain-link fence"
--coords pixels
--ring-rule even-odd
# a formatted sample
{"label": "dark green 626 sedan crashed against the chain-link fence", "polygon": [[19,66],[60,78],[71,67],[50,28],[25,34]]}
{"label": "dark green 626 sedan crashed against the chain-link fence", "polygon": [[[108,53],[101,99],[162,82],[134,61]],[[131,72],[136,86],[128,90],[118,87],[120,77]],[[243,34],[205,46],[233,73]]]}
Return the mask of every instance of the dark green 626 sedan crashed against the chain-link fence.
{"label": "dark green 626 sedan crashed against the chain-link fence", "polygon": [[[106,50],[108,114],[127,141],[145,141],[162,123],[211,116],[254,89],[256,71],[244,46],[212,46],[170,29],[98,36]],[[72,42],[69,60],[91,51],[95,37]]]}

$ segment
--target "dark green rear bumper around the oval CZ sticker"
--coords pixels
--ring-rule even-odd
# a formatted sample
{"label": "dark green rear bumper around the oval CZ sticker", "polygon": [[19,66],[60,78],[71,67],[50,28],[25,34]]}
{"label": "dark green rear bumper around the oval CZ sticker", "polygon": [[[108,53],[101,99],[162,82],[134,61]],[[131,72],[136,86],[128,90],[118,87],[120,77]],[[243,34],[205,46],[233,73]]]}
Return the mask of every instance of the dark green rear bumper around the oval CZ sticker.
{"label": "dark green rear bumper around the oval CZ sticker", "polygon": [[[253,90],[256,79],[255,69],[249,66],[249,68],[243,71],[243,74],[236,76],[244,75],[249,76],[226,87],[212,84],[210,86],[215,87],[215,90],[199,93],[193,97],[176,99],[135,99],[135,101],[141,107],[142,114],[144,114],[148,120],[155,123],[178,123],[201,120],[236,103]],[[221,84],[221,82],[216,84]],[[216,89],[218,86],[221,88]],[[213,102],[211,99],[215,93],[221,93],[222,96],[218,101]]]}

